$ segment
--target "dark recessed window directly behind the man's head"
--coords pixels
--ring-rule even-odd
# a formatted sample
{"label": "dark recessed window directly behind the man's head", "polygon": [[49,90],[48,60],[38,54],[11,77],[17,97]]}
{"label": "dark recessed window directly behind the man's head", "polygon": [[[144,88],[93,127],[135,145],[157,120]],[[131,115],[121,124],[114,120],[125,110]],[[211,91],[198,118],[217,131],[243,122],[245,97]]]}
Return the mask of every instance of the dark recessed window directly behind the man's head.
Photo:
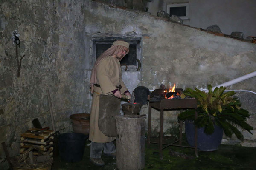
{"label": "dark recessed window directly behind the man's head", "polygon": [[129,53],[121,60],[120,64],[124,65],[122,70],[132,71],[137,70],[138,60],[141,59],[141,38],[140,37],[95,37],[93,38],[93,65],[95,60],[108,48],[111,47],[114,41],[125,40],[130,44]]}

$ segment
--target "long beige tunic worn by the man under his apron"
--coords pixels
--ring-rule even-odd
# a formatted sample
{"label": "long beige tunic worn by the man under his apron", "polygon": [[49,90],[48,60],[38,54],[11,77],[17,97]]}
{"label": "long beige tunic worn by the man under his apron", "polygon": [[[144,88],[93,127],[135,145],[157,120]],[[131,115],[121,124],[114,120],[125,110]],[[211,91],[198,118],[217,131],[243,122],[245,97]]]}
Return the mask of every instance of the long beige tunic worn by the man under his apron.
{"label": "long beige tunic worn by the man under his apron", "polygon": [[113,95],[111,91],[116,89],[116,86],[122,85],[121,93],[123,94],[128,89],[122,81],[122,72],[120,62],[113,56],[108,56],[102,59],[97,67],[96,83],[99,87],[94,86],[92,107],[90,112],[90,133],[89,140],[92,142],[106,143],[115,140],[115,137],[105,136],[98,127],[99,119],[99,94]]}

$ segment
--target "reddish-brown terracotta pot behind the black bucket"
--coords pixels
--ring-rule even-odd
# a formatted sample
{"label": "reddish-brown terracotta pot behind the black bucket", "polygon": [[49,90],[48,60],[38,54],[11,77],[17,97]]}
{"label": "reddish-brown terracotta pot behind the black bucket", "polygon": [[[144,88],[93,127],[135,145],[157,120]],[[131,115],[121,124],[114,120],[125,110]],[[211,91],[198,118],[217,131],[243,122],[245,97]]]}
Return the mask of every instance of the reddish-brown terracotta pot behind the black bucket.
{"label": "reddish-brown terracotta pot behind the black bucket", "polygon": [[90,114],[79,113],[70,115],[73,131],[76,133],[89,134],[90,130]]}

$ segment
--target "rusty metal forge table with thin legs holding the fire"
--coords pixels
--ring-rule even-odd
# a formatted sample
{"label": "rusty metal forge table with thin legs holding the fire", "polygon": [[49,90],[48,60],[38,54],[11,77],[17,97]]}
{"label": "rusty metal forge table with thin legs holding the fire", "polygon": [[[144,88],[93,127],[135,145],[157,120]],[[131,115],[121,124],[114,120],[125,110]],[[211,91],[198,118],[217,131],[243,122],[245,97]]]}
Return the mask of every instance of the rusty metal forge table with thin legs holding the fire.
{"label": "rusty metal forge table with thin legs holding the fire", "polygon": [[[150,142],[150,135],[151,135],[151,109],[157,108],[160,110],[160,139],[159,143],[157,142]],[[195,156],[198,157],[198,150],[197,150],[197,127],[195,126],[195,147],[189,147],[189,146],[183,146],[181,145],[182,140],[182,121],[180,121],[180,135],[179,140],[172,142],[171,144],[164,144],[167,145],[166,147],[163,147],[163,110],[164,109],[185,109],[185,108],[194,108],[195,109],[195,119],[197,119],[197,99],[162,99],[157,102],[149,102],[148,107],[148,146],[150,143],[160,144],[159,146],[159,153],[160,153],[160,159],[163,159],[163,149],[169,146],[177,146],[177,147],[188,147],[188,148],[194,148],[195,149]],[[179,142],[179,144],[175,144]]]}

